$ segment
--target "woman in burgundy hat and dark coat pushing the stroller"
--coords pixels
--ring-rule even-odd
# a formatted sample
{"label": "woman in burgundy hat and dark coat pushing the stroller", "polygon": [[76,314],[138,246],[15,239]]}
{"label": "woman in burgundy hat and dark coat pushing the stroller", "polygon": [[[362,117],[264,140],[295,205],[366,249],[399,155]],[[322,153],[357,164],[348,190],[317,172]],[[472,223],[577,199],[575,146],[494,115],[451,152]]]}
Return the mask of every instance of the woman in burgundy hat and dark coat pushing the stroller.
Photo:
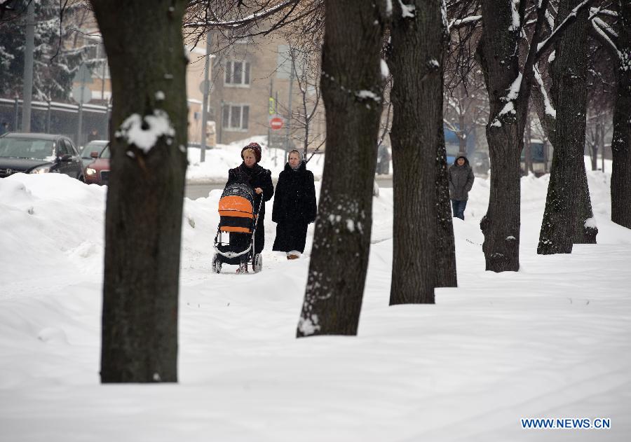
{"label": "woman in burgundy hat and dark coat pushing the stroller", "polygon": [[[257,223],[257,231],[255,233],[255,254],[263,251],[265,245],[265,202],[271,200],[274,194],[274,185],[271,182],[271,172],[259,166],[261,160],[261,146],[258,143],[250,143],[241,149],[241,158],[243,163],[239,167],[235,167],[228,171],[228,182],[230,184],[247,184],[255,192],[255,210],[261,203],[261,210],[258,214],[259,221]],[[225,186],[224,186],[225,187]],[[247,242],[250,235],[243,233],[230,234],[230,244],[239,249],[247,248]],[[238,272],[247,272],[247,264],[242,263]]]}

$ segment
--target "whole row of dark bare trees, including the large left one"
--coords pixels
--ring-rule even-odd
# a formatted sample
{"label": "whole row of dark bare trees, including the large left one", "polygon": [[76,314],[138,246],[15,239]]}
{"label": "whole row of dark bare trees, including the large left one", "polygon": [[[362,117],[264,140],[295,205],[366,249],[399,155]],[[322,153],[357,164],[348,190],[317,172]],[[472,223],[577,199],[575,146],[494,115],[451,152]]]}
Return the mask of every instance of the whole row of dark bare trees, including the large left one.
{"label": "whole row of dark bare trees, including the large left one", "polygon": [[[327,156],[298,336],[357,333],[388,70],[382,57],[393,76],[395,200],[390,301],[433,303],[435,287],[456,285],[442,116],[449,22],[475,29],[471,32],[477,39],[473,47],[487,87],[487,140],[493,171],[489,209],[481,223],[487,270],[519,269],[524,126],[531,90],[539,83],[538,64],[552,49],[554,87],[550,93],[541,89],[541,94],[546,116],[555,116],[553,106],[557,109],[548,132],[554,132],[553,167],[560,184],[550,186],[540,251],[569,251],[567,236],[595,235],[584,167],[579,165],[583,164],[585,131],[584,123],[577,124],[577,120],[585,120],[584,99],[576,95],[585,69],[585,46],[579,46],[585,41],[583,28],[595,23],[607,44],[619,53],[612,146],[612,198],[618,198],[618,207],[612,216],[615,212],[614,221],[631,227],[631,11],[625,1],[611,9],[594,6],[597,2],[590,0],[559,0],[552,5],[548,0],[452,1],[450,10],[463,16],[449,21],[445,2],[440,0],[90,3],[104,39],[114,97],[102,382],[177,380],[177,281],[186,169],[185,149],[178,146],[186,146],[186,59],[182,53],[186,6],[195,11],[194,24],[205,29],[244,26],[264,33],[299,23],[309,14],[323,18],[321,88]],[[262,29],[262,20],[271,18],[278,20]],[[564,34],[569,27],[573,27],[573,36],[581,37]],[[166,99],[158,91],[165,92]],[[159,116],[172,131],[157,137],[150,150],[139,149],[124,130],[133,115],[145,129],[153,124],[147,116]],[[346,158],[353,158],[353,164],[349,166]],[[567,204],[579,197],[581,209]],[[559,231],[571,234],[557,240]]]}

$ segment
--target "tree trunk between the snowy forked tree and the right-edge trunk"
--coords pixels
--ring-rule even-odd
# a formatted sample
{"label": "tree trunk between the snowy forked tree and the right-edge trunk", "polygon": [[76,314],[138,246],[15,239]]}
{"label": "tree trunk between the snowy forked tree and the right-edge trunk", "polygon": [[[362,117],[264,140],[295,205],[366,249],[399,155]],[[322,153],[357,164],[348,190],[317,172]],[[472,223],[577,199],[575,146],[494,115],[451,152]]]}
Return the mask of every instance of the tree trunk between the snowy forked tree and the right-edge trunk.
{"label": "tree trunk between the snowy forked tree and the right-edge trunk", "polygon": [[[556,25],[579,3],[561,0]],[[585,176],[585,113],[587,111],[588,11],[578,15],[571,32],[557,41],[552,62],[550,97],[557,118],[552,170],[538,254],[571,253],[574,242],[595,242],[587,177]],[[578,202],[578,204],[577,204]]]}

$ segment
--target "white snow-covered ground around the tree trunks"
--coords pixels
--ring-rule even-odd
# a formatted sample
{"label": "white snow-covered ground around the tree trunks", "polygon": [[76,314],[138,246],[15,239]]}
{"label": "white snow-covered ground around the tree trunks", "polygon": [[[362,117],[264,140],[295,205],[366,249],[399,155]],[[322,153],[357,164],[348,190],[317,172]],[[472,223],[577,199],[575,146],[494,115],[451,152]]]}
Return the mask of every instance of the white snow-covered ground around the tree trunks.
{"label": "white snow-covered ground around the tree trunks", "polygon": [[[189,179],[225,179],[239,151],[217,150]],[[476,179],[454,220],[459,287],[396,307],[382,188],[359,335],[299,340],[310,246],[287,261],[266,219],[264,270],[215,275],[220,191],[186,199],[177,385],[99,384],[106,189],[1,179],[0,441],[627,441],[631,230],[609,221],[609,174],[588,179],[599,244],[537,256],[548,177],[525,177],[522,268],[501,274],[484,271],[489,181]],[[611,428],[522,429],[540,417]]]}

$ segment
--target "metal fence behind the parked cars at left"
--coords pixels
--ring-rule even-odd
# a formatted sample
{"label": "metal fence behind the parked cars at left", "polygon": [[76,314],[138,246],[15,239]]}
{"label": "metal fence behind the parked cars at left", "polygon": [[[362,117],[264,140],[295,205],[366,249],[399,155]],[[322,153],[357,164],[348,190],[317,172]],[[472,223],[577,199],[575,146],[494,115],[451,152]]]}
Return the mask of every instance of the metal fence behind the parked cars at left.
{"label": "metal fence behind the parked cars at left", "polygon": [[[83,146],[88,136],[96,130],[97,139],[108,139],[108,121],[111,106],[83,104],[81,109],[81,134],[79,134],[79,105],[60,102],[32,102],[31,132],[64,134]],[[6,130],[20,132],[22,125],[22,100],[0,98],[0,125]]]}

